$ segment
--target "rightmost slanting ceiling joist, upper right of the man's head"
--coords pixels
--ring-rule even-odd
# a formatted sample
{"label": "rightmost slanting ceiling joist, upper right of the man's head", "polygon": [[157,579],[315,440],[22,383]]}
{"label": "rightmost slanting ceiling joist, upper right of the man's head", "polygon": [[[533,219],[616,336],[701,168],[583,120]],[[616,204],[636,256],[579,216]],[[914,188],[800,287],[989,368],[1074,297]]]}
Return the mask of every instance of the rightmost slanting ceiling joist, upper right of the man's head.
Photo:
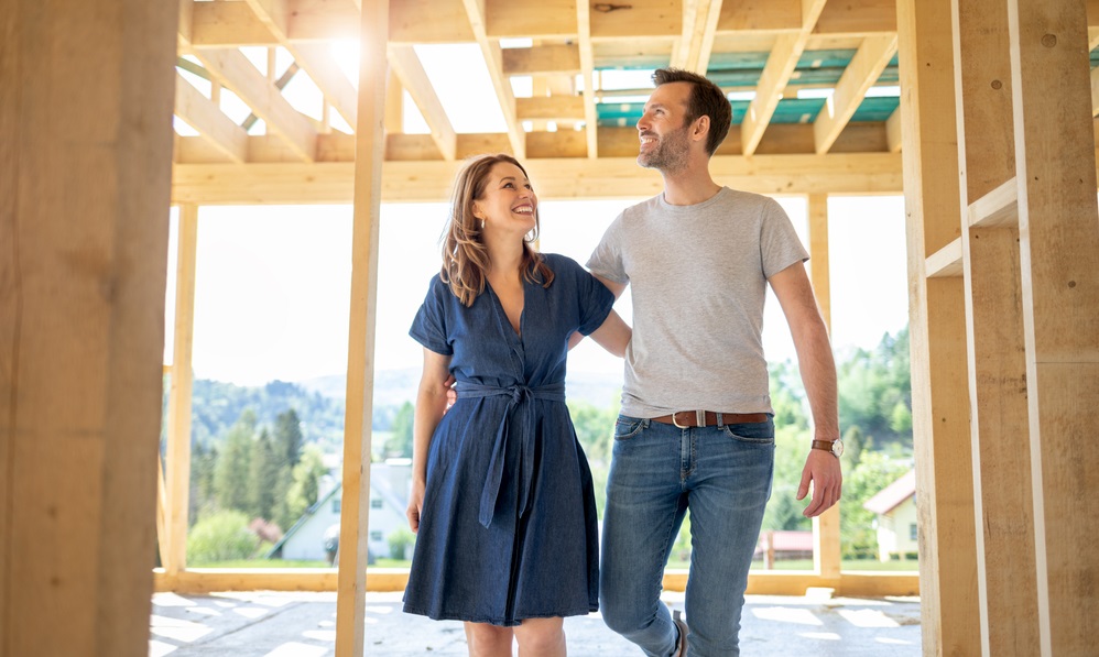
{"label": "rightmost slanting ceiling joist, upper right of the man's head", "polygon": [[817,153],[827,153],[836,143],[839,133],[847,128],[855,111],[866,98],[867,91],[881,77],[894,54],[896,54],[895,34],[868,36],[862,41],[862,45],[851,57],[850,64],[836,84],[835,92],[813,122]]}

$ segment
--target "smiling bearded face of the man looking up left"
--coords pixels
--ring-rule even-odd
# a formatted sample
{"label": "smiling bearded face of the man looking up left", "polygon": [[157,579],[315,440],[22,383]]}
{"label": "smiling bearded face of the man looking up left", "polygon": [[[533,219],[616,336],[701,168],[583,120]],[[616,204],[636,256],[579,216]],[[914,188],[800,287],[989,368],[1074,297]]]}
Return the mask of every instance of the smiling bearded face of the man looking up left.
{"label": "smiling bearded face of the man looking up left", "polygon": [[638,164],[661,172],[676,172],[687,164],[687,100],[689,83],[668,83],[653,90],[638,120],[641,151]]}

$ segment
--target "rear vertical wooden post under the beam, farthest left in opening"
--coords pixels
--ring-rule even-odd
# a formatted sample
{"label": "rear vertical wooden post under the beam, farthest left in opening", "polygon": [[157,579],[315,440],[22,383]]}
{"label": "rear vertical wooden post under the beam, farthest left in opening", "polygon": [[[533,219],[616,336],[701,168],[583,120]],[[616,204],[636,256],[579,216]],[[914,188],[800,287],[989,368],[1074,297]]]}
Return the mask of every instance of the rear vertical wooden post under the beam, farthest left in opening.
{"label": "rear vertical wooden post under the beam, farthest left in opening", "polygon": [[195,266],[198,254],[198,206],[179,206],[179,239],[175,276],[175,331],[172,383],[167,403],[167,554],[164,571],[175,577],[187,568],[187,523],[191,510],[191,403],[194,375]]}

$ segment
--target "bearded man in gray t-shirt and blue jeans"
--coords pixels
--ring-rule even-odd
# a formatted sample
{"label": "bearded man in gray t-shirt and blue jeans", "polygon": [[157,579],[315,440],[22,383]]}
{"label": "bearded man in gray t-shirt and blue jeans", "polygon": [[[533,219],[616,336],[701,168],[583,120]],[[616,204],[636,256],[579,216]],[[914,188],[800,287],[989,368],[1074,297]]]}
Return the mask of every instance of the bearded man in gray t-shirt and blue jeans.
{"label": "bearded man in gray t-shirt and blue jeans", "polygon": [[[710,176],[731,123],[728,99],[687,72],[660,69],[653,81],[638,121],[638,163],[661,173],[664,193],[623,211],[588,261],[616,296],[632,286],[634,308],[600,606],[608,626],[646,655],[729,657],[740,654],[743,593],[774,469],[761,337],[768,284],[790,324],[813,413],[816,440],[797,493],[804,499],[812,482],[809,517],[840,496],[836,365],[790,219],[773,199]],[[660,601],[687,508],[689,642],[686,624]]]}

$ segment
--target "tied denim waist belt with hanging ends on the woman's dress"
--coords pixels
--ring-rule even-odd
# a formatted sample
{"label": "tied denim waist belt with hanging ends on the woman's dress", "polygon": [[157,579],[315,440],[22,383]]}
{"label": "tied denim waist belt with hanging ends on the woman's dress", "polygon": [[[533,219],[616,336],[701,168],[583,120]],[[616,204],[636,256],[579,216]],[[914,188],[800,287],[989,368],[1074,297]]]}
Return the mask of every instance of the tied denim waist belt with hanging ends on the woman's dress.
{"label": "tied denim waist belt with hanging ends on the woman's dress", "polygon": [[480,512],[478,521],[488,527],[492,524],[492,516],[496,515],[497,502],[500,497],[500,485],[503,482],[503,464],[508,452],[508,441],[512,439],[513,427],[511,416],[516,410],[522,415],[519,420],[522,423],[515,429],[521,430],[520,448],[520,471],[519,471],[519,516],[526,512],[526,504],[531,495],[531,485],[534,482],[534,434],[535,417],[534,404],[532,399],[544,399],[547,402],[565,402],[565,384],[555,383],[531,387],[526,385],[481,385],[459,381],[459,399],[477,399],[481,397],[511,397],[508,401],[508,410],[500,419],[500,427],[497,429],[496,441],[492,444],[492,458],[489,461],[488,478],[481,489]]}

